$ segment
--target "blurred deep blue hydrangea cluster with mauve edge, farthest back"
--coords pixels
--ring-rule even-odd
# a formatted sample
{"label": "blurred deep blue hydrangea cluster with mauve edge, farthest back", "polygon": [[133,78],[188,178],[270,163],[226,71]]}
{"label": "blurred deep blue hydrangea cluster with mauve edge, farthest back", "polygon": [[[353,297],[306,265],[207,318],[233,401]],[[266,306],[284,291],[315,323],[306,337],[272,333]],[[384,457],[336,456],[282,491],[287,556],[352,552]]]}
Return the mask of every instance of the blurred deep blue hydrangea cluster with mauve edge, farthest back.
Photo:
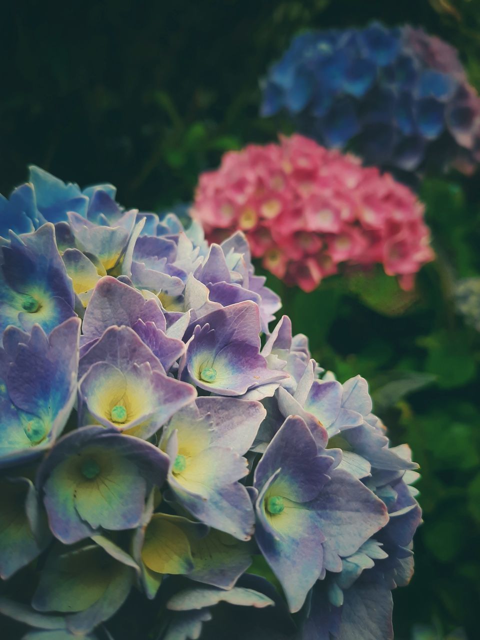
{"label": "blurred deep blue hydrangea cluster with mauve edge, farthest back", "polygon": [[294,38],[262,83],[262,115],[404,172],[480,161],[480,99],[456,49],[420,28],[332,29]]}

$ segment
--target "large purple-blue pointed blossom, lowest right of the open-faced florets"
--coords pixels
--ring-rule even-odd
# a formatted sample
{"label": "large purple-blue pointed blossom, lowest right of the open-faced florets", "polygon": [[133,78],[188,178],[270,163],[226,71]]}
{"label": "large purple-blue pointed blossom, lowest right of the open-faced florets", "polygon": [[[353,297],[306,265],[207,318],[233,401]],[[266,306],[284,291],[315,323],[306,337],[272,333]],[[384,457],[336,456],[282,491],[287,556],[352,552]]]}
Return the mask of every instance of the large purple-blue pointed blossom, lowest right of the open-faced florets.
{"label": "large purple-blue pointed blossom, lowest right of the open-faced florets", "polygon": [[255,470],[256,537],[291,611],[326,570],[341,570],[388,522],[387,509],[358,479],[335,469],[300,417],[291,416]]}

